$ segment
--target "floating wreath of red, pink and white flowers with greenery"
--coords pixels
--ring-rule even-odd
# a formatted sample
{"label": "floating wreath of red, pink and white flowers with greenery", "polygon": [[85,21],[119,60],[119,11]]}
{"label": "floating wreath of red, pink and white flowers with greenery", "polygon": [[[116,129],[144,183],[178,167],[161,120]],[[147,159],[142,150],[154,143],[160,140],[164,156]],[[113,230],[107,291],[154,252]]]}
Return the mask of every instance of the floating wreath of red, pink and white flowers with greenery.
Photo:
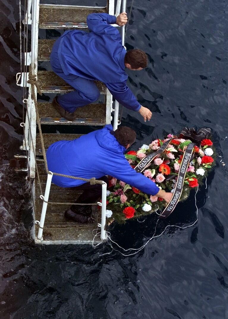
{"label": "floating wreath of red, pink and white flowers with greenery", "polygon": [[[144,144],[138,151],[130,151],[125,154],[125,157],[134,168],[145,156],[157,151],[170,138],[173,139],[168,147],[152,160],[143,174],[155,182],[160,189],[173,192],[180,163],[184,151],[191,143],[190,140],[169,134],[166,139],[156,139],[150,145]],[[194,146],[194,157],[187,168],[180,201],[186,200],[190,190],[202,184],[204,176],[215,165],[215,149],[212,141],[205,138],[201,140],[200,144],[200,147]],[[118,223],[124,223],[126,219],[148,215],[154,211],[161,211],[165,206],[166,203],[162,198],[149,196],[116,178],[111,178],[109,181],[107,218],[115,219]]]}

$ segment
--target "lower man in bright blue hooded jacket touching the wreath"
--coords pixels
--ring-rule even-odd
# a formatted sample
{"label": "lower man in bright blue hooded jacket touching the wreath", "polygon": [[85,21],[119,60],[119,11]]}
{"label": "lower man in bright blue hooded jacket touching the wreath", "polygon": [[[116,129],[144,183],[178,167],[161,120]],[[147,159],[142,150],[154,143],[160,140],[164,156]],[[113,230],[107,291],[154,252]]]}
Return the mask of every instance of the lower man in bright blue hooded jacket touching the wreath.
{"label": "lower man in bright blue hooded jacket touching the wreath", "polygon": [[[136,133],[122,126],[113,131],[112,125],[93,131],[72,141],[59,141],[48,148],[48,169],[55,173],[90,179],[103,180],[108,184],[106,175],[140,189],[148,195],[156,195],[167,203],[172,193],[160,190],[154,182],[137,173],[125,159],[124,152],[135,142]],[[53,175],[52,182],[60,187],[83,190],[76,203],[94,203],[101,198],[102,186],[88,182]],[[72,205],[65,211],[65,217],[76,222],[91,220],[92,208],[87,205]]]}

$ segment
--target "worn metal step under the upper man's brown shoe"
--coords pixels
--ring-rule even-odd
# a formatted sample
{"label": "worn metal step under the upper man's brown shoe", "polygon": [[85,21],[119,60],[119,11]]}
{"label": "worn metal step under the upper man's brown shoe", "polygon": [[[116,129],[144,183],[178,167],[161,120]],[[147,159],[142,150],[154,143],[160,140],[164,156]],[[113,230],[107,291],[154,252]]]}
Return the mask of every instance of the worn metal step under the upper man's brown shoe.
{"label": "worn metal step under the upper man's brown shoe", "polygon": [[106,121],[106,106],[100,103],[92,103],[77,108],[74,112],[77,118],[74,121],[67,121],[60,117],[52,103],[38,102],[38,111],[41,124],[105,125]]}

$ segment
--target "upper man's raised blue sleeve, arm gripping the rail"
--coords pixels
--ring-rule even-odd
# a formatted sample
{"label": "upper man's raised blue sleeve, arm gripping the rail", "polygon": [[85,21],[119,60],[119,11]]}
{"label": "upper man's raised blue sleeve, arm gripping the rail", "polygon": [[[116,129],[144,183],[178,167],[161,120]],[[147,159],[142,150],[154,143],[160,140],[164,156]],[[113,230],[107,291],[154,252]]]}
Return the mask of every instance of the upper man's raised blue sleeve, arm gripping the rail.
{"label": "upper man's raised blue sleeve, arm gripping the rail", "polygon": [[87,16],[87,26],[90,31],[98,34],[120,35],[111,24],[116,23],[116,17],[107,13],[91,13]]}

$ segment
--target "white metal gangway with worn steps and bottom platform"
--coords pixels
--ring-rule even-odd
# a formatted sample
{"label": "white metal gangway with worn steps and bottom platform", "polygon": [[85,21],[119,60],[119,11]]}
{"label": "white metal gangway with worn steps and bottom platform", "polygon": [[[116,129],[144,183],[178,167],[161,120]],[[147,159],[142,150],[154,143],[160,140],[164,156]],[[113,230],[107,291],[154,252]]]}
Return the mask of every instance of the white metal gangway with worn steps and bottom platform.
{"label": "white metal gangway with worn steps and bottom platform", "polygon": [[[20,149],[26,152],[26,170],[33,197],[32,238],[36,243],[90,243],[94,239],[92,233],[94,228],[99,229],[101,240],[106,240],[106,183],[102,182],[102,203],[98,203],[101,206],[101,218],[98,215],[96,222],[89,225],[66,221],[63,211],[69,208],[70,204],[74,204],[79,194],[77,191],[60,188],[51,183],[55,173],[48,170],[45,152],[49,145],[56,141],[80,137],[82,134],[74,132],[75,128],[81,128],[81,125],[110,124],[112,112],[114,112],[114,130],[116,130],[120,124],[119,103],[115,101],[113,109],[111,93],[103,83],[95,81],[102,101],[78,108],[75,111],[77,118],[73,122],[60,118],[48,100],[53,93],[55,95],[67,93],[74,89],[51,70],[49,60],[52,46],[56,41],[53,30],[57,30],[58,34],[63,33],[64,30],[88,30],[86,25],[88,14],[104,12],[118,16],[121,6],[122,11],[126,11],[126,0],[117,0],[116,8],[114,0],[108,0],[107,5],[103,7],[40,4],[39,0],[25,0],[25,15],[22,20],[22,4],[19,0],[21,70],[16,78],[17,85],[23,88],[21,126],[24,130],[23,145]],[[45,39],[43,39],[43,31],[46,31]],[[30,33],[31,42],[29,41]],[[122,45],[124,45],[125,26],[121,27],[121,36]],[[45,101],[39,93],[48,94],[44,95]],[[68,132],[73,132],[59,133],[59,125],[67,128]],[[92,182],[100,183],[101,181],[93,179]],[[94,205],[97,206],[96,203]]]}

